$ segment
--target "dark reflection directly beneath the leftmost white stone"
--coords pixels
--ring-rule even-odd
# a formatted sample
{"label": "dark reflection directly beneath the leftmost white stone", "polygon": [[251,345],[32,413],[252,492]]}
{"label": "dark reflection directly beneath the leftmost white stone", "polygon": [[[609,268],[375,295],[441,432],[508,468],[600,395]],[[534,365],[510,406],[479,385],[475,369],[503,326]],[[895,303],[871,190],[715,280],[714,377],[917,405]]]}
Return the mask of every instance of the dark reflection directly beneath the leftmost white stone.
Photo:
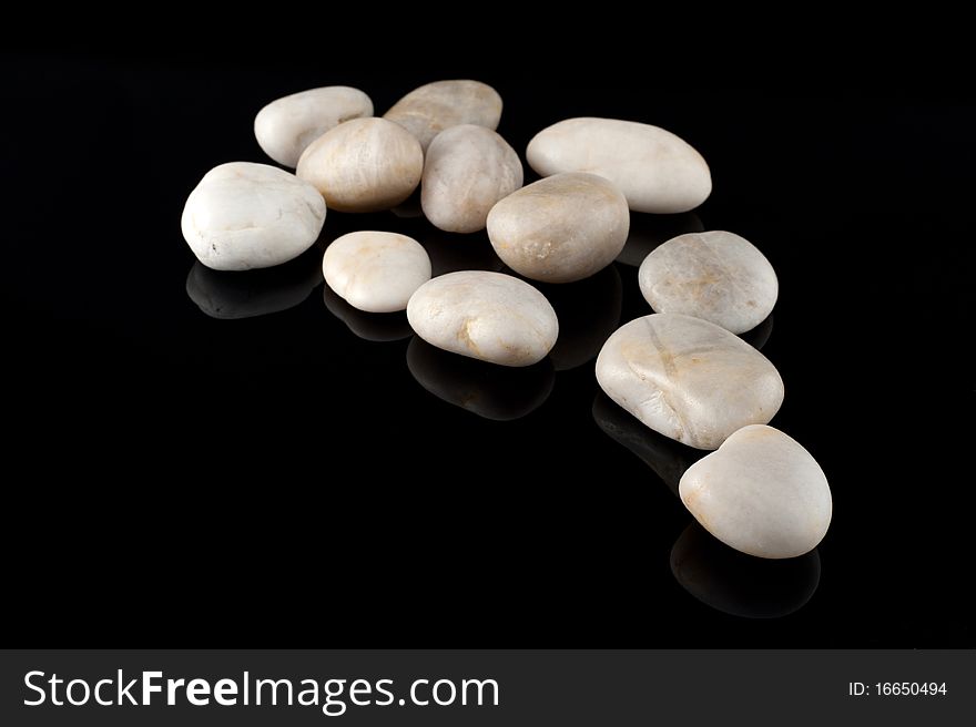
{"label": "dark reflection directly beneath the leftmost white stone", "polygon": [[212,270],[196,262],[186,295],[212,318],[254,318],[294,308],[322,283],[322,252],[312,247],[276,267],[244,273]]}

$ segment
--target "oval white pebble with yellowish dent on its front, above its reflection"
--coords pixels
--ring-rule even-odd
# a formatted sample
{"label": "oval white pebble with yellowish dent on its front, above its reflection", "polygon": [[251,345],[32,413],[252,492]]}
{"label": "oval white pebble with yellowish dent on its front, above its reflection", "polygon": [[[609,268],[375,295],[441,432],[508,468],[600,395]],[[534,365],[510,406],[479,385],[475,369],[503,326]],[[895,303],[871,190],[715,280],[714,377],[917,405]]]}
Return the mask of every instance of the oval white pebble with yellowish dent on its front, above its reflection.
{"label": "oval white pebble with yellowish dent on its front, above its reflection", "polygon": [[501,366],[531,366],[556,344],[559,321],[546,296],[501,273],[465,270],[425,283],[407,319],[431,346]]}

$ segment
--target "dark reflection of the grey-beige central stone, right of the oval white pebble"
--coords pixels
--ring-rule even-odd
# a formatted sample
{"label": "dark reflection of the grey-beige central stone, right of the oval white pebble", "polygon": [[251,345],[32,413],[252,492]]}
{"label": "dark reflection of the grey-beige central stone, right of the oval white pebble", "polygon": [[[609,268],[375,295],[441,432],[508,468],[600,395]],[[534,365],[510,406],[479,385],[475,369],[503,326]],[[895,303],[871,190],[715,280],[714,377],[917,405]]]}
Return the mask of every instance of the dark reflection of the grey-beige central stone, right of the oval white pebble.
{"label": "dark reflection of the grey-beige central stone, right of the oval white pebble", "polygon": [[557,371],[582,366],[597,357],[620,324],[623,286],[616,265],[570,285],[541,285],[559,318],[559,338],[549,356]]}

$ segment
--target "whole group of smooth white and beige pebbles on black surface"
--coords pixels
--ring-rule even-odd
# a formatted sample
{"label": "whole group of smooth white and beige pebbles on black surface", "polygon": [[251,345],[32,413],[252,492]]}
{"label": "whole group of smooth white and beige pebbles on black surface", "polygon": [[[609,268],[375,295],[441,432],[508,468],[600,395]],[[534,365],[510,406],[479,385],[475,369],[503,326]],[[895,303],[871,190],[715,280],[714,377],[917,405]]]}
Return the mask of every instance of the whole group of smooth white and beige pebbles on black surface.
{"label": "whole group of smooth white and beige pebbles on black surface", "polygon": [[[183,235],[217,270],[279,265],[316,242],[326,208],[389,209],[419,186],[436,227],[487,227],[515,273],[572,283],[620,254],[631,212],[687,212],[711,193],[708,164],[683,140],[611,119],[569,119],[539,132],[526,156],[543,178],[523,187],[518,154],[494,131],[500,119],[501,98],[476,81],[424,85],[383,117],[346,86],[278,99],[257,114],[254,132],[295,174],[248,162],[215,167],[186,201]],[[424,247],[404,235],[344,235],[326,249],[323,272],[352,306],[406,309],[429,344],[490,364],[536,364],[559,334],[556,311],[532,285],[481,270],[431,279]],[[600,387],[654,431],[718,449],[679,487],[709,532],[761,557],[811,551],[830,525],[830,487],[803,447],[766,426],[783,381],[736,336],[773,309],[772,266],[738,235],[695,233],[648,255],[639,283],[657,313],[610,336],[597,359]]]}

